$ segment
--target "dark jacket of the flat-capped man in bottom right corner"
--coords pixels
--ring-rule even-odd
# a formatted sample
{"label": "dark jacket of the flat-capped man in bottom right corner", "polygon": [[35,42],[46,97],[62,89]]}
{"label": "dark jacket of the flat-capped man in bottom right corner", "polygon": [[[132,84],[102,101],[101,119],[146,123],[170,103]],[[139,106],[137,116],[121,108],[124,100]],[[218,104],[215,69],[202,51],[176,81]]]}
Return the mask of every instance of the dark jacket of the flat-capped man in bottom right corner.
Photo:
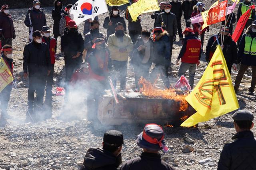
{"label": "dark jacket of the flat-capped man in bottom right corner", "polygon": [[251,131],[236,133],[224,145],[217,170],[256,170],[256,141]]}

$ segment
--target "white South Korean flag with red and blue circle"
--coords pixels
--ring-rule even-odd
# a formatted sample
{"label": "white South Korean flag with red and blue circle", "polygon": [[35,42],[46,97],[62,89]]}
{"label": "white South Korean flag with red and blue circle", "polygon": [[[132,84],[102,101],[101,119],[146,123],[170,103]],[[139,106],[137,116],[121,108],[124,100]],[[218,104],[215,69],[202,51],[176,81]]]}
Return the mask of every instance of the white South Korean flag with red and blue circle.
{"label": "white South Korean flag with red and blue circle", "polygon": [[70,9],[71,19],[79,25],[83,21],[108,12],[105,0],[78,0]]}

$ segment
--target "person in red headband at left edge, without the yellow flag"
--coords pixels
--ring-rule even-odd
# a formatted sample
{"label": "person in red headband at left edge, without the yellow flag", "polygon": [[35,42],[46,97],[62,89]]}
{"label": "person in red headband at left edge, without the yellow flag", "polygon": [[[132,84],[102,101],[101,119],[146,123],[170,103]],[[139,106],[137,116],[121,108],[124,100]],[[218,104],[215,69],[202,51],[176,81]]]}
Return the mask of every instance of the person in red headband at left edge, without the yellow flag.
{"label": "person in red headband at left edge, without the yellow flag", "polygon": [[[2,48],[2,55],[0,57],[4,59],[4,62],[10,69],[11,73],[13,74],[13,59],[12,59],[12,46],[11,45],[4,45]],[[10,118],[10,115],[7,113],[8,102],[10,100],[10,94],[12,91],[12,83],[7,85],[2,92],[0,92],[0,127],[3,127],[6,124],[6,119]]]}

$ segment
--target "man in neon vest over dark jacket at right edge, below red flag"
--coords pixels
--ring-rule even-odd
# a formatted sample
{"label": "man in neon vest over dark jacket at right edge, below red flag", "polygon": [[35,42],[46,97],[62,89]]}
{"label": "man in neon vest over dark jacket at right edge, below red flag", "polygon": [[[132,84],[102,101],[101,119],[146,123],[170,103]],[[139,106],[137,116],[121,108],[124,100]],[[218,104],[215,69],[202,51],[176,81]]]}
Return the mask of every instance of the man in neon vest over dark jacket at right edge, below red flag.
{"label": "man in neon vest over dark jacket at right edge, below red flag", "polygon": [[235,92],[237,94],[240,82],[244,76],[244,72],[249,66],[252,67],[252,82],[249,88],[249,95],[256,95],[254,89],[256,86],[256,21],[253,21],[246,33],[242,36],[238,49],[238,63],[241,63],[240,69],[236,76]]}

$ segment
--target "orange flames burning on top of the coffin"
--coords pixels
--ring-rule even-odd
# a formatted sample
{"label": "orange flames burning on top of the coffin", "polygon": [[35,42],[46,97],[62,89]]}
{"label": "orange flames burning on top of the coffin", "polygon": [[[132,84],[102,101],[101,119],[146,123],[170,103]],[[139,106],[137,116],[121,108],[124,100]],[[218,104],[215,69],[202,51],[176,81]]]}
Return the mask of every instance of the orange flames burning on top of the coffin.
{"label": "orange flames burning on top of the coffin", "polygon": [[180,102],[179,111],[186,111],[186,109],[188,108],[188,102],[185,99],[188,94],[176,94],[175,89],[172,88],[165,90],[155,88],[145,78],[140,78],[139,84],[142,85],[142,87],[140,88],[140,92],[144,96],[150,96],[154,98],[161,97],[164,99],[170,99],[175,100],[176,102]]}

